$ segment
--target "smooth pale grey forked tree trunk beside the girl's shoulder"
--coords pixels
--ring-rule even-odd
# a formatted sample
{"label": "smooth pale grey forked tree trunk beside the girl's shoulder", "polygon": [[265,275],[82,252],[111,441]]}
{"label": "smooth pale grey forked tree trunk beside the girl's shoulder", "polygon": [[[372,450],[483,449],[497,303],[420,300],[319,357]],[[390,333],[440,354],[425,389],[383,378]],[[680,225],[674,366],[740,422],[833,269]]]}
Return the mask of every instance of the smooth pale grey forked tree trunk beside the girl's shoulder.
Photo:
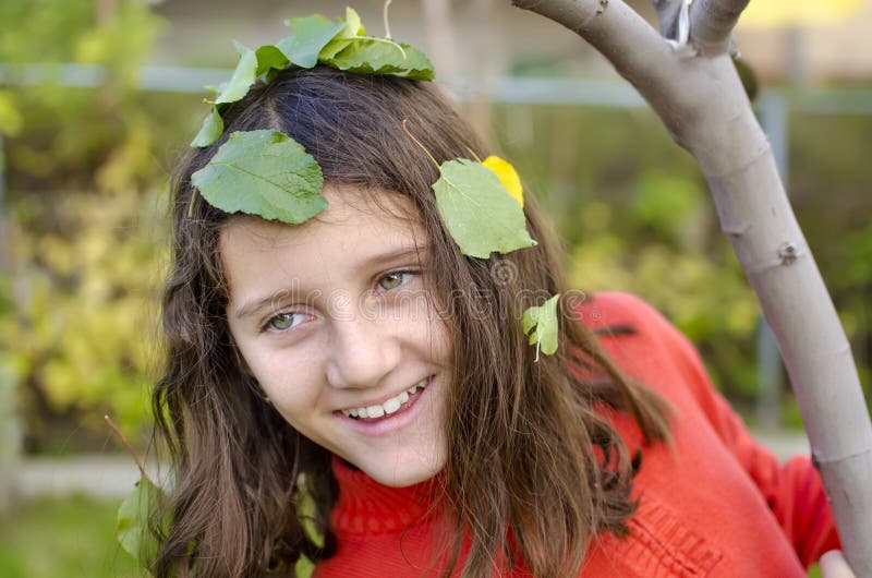
{"label": "smooth pale grey forked tree trunk beside the girl's shoulder", "polygon": [[[687,43],[621,0],[514,0],[582,36],[647,99],[697,158],[722,230],[778,340],[845,554],[872,578],[872,425],[850,346],[727,53],[748,0],[697,0]],[[682,0],[657,0],[661,28]],[[683,27],[687,31],[687,26]]]}

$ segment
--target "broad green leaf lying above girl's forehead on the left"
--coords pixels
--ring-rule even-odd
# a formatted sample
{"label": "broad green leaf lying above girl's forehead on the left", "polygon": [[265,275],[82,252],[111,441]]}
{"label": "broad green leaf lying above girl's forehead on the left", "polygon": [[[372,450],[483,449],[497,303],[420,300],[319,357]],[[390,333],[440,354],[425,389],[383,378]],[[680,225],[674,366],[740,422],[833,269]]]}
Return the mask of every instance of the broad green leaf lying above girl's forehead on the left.
{"label": "broad green leaf lying above girl's forehead on the left", "polygon": [[278,131],[234,132],[209,164],[191,176],[191,183],[221,210],[292,225],[327,207],[320,195],[320,167],[300,143]]}

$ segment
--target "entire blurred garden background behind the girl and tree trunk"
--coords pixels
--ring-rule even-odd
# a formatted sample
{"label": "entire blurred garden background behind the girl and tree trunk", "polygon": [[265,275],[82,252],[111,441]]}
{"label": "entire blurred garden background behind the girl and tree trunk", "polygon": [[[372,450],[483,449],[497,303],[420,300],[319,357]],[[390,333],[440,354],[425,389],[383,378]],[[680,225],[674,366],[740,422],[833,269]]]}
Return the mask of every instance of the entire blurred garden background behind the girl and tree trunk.
{"label": "entire blurred garden background behind the girl and tree trunk", "polygon": [[[649,3],[631,2],[652,22]],[[755,0],[737,31],[760,113],[861,380],[872,369],[872,1]],[[167,178],[227,80],[282,21],[344,2],[0,3],[0,576],[135,576],[114,542],[160,366]],[[383,2],[359,0],[384,34]],[[393,37],[552,216],[574,287],[635,292],[700,348],[782,455],[796,404],[703,179],[573,34],[497,0],[396,0]],[[744,67],[743,67],[744,68]]]}

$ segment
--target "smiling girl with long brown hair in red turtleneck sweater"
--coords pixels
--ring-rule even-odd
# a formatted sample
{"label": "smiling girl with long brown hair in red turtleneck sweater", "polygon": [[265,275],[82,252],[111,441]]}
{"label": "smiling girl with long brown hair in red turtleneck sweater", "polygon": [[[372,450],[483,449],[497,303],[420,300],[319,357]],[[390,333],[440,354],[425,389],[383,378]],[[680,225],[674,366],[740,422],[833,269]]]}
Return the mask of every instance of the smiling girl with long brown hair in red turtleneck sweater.
{"label": "smiling girl with long brown hair in red turtleneck sweater", "polygon": [[[788,577],[837,546],[809,460],[759,446],[646,304],[571,293],[530,198],[535,246],[462,254],[428,154],[486,149],[432,85],[291,67],[223,122],[174,178],[157,576]],[[192,185],[265,129],[324,173],[301,225]],[[519,320],[557,293],[540,354]]]}

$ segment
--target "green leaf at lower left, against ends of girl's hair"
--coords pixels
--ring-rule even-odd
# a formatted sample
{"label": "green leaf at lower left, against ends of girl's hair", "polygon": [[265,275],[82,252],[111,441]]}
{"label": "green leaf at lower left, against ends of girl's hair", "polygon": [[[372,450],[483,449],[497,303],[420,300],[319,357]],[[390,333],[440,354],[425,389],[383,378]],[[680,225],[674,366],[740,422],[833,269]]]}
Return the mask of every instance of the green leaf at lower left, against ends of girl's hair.
{"label": "green leaf at lower left, against ends of girl's hair", "polygon": [[[118,542],[144,568],[149,568],[157,557],[158,541],[148,530],[148,520],[166,499],[164,491],[146,478],[136,482],[136,487],[118,508]],[[169,530],[170,515],[161,520]]]}

